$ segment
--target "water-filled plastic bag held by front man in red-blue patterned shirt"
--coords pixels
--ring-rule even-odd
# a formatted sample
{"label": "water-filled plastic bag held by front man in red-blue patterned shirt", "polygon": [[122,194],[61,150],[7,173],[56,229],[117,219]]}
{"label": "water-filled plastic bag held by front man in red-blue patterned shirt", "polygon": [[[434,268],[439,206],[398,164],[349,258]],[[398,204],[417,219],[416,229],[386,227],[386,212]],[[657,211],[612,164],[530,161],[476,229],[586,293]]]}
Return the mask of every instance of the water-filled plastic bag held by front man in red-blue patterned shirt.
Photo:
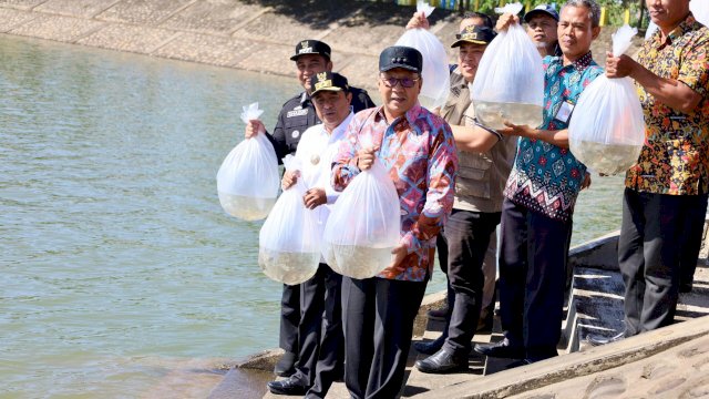
{"label": "water-filled plastic bag held by front man in red-blue patterned shirt", "polygon": [[376,160],[370,170],[352,178],[335,203],[325,226],[322,255],[343,276],[373,277],[391,264],[400,232],[399,194]]}

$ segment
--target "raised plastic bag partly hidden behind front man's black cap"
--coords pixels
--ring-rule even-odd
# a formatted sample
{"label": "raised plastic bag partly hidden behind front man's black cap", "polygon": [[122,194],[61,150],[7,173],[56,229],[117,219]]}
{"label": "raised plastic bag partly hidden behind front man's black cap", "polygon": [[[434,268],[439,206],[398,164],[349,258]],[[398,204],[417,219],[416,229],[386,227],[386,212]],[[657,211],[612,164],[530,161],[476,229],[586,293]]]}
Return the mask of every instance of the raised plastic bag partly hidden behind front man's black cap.
{"label": "raised plastic bag partly hidden behind front man's black cap", "polygon": [[[419,1],[417,11],[427,17],[433,12],[433,7]],[[421,105],[429,110],[443,106],[451,90],[451,73],[448,66],[448,54],[443,43],[425,29],[409,29],[399,38],[397,45],[414,48],[423,55],[421,78],[423,86],[419,94]]]}

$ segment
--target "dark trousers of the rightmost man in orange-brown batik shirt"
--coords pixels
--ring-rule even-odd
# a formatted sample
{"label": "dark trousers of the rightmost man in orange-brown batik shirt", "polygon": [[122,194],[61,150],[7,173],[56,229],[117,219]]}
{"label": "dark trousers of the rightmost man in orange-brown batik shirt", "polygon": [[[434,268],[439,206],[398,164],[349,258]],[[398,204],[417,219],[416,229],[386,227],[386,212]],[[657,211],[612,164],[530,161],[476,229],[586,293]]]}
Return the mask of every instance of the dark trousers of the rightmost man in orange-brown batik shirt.
{"label": "dark trousers of the rightmost man in orange-brown batik shirt", "polygon": [[679,259],[699,195],[639,193],[626,188],[618,263],[625,283],[626,336],[672,324],[679,295]]}

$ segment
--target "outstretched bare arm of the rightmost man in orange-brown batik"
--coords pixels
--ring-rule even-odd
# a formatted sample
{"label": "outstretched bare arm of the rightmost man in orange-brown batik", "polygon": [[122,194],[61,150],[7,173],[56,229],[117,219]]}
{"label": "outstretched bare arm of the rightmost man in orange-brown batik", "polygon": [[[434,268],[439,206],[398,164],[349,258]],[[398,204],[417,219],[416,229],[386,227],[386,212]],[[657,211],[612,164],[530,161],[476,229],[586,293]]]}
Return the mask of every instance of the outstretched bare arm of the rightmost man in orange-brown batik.
{"label": "outstretched bare arm of the rightmost man in orange-brown batik", "polygon": [[[705,55],[707,55],[706,50],[700,51],[703,51]],[[657,101],[676,111],[690,113],[697,109],[699,102],[703,98],[699,92],[690,86],[696,79],[693,76],[689,76],[690,82],[684,81],[681,71],[679,79],[660,78],[628,55],[623,54],[620,57],[613,57],[612,53],[608,53],[607,55],[606,76],[630,76],[638,82],[638,84],[645,88],[649,94],[655,96]],[[701,64],[703,64],[703,71],[699,73],[706,74],[707,69],[709,68],[709,61],[705,59]]]}

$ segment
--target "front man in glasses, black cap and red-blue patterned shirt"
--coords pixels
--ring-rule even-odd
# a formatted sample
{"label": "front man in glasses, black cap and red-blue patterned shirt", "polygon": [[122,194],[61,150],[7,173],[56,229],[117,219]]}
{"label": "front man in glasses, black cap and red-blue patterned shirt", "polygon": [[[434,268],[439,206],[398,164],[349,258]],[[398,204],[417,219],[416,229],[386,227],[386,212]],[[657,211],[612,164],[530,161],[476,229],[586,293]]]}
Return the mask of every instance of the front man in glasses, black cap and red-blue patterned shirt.
{"label": "front man in glasses, black cap and red-blue patterned shirt", "polygon": [[455,143],[448,123],[419,105],[422,63],[412,48],[381,52],[383,105],[354,115],[332,166],[332,187],[342,191],[378,160],[401,209],[401,239],[389,267],[371,278],[342,277],[345,382],[352,398],[398,396],[435,237],[453,205]]}

